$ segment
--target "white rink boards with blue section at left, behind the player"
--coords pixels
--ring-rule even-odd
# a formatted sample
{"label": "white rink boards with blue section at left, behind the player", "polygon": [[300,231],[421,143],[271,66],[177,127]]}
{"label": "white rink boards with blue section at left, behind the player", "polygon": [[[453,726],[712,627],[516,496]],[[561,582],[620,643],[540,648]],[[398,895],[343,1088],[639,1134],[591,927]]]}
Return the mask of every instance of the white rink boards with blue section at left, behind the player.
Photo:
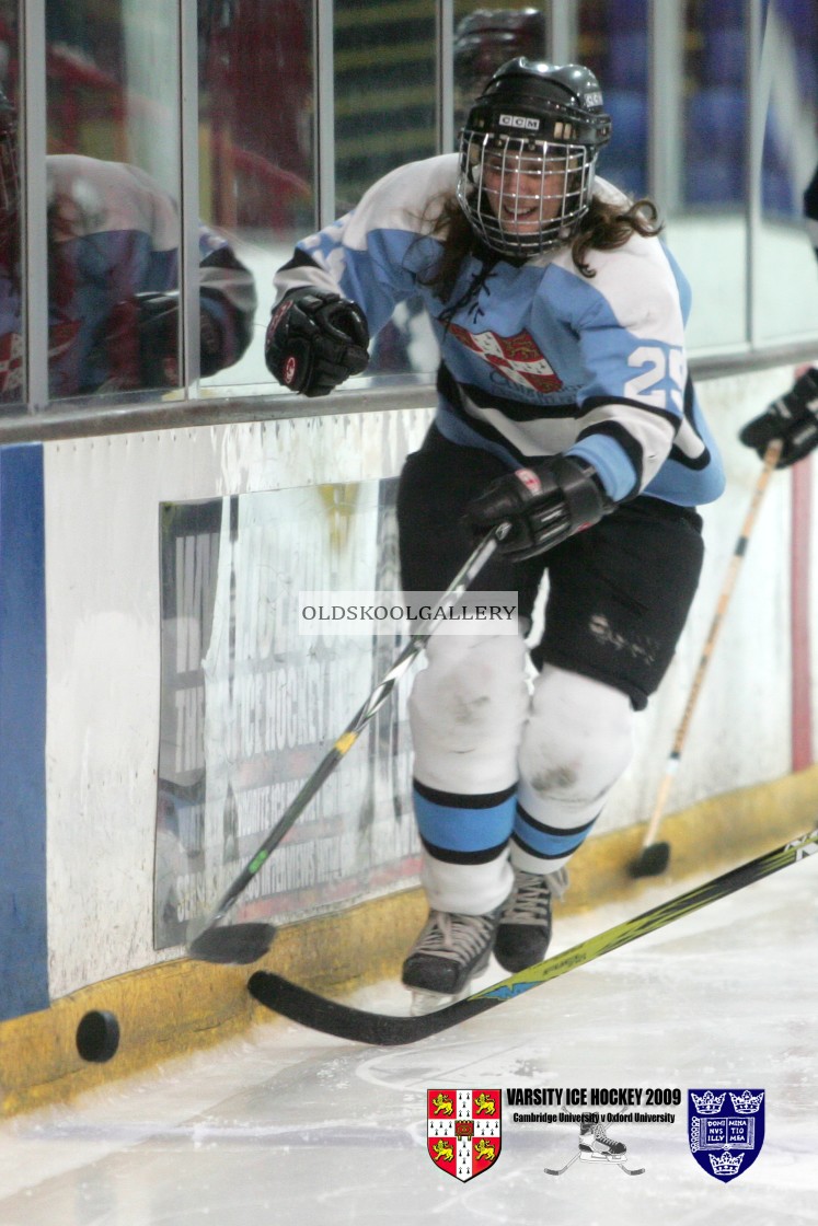
{"label": "white rink boards with blue section at left, behind the player", "polygon": [[[778,369],[699,384],[727,493],[703,509],[694,612],[587,868],[578,862],[578,897],[585,873],[598,874],[601,840],[622,832],[634,846],[652,808],[758,477],[736,433],[790,379]],[[0,449],[0,1019],[175,965],[185,924],[389,667],[388,636],[305,636],[294,601],[299,588],[395,580],[395,478],[429,419],[423,407],[308,406],[242,422],[226,408],[212,425]],[[814,607],[818,573],[803,516],[811,467],[771,482],[673,785],[670,810],[704,803],[711,826],[722,798],[814,760],[816,644],[798,612]],[[338,910],[380,899],[392,932],[396,899],[416,884],[410,764],[403,694],[293,831],[247,916],[318,917],[326,931]],[[792,781],[782,786],[795,831]],[[759,814],[762,845],[764,824]],[[737,858],[749,834],[736,831]],[[364,961],[367,927],[354,938]],[[309,924],[299,931],[309,944]],[[293,949],[299,939],[287,937]]]}

